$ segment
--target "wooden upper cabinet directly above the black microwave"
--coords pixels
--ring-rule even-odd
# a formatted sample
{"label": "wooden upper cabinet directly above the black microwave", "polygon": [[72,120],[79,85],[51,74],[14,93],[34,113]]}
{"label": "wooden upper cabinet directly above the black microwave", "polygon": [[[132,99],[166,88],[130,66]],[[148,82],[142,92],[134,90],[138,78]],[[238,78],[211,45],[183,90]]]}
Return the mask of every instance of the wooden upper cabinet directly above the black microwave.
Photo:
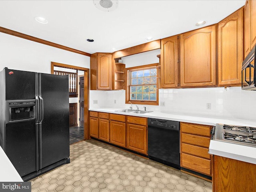
{"label": "wooden upper cabinet directly above the black microwave", "polygon": [[256,1],[246,0],[244,5],[244,58],[256,44]]}

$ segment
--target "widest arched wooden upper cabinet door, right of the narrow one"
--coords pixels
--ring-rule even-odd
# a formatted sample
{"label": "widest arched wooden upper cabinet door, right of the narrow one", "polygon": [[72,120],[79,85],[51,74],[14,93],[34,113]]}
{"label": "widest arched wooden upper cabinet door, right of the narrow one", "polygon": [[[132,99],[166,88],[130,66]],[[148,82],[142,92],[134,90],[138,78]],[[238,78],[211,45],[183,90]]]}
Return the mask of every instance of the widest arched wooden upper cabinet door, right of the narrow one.
{"label": "widest arched wooden upper cabinet door, right of the narrow one", "polygon": [[180,86],[216,86],[216,25],[181,34]]}

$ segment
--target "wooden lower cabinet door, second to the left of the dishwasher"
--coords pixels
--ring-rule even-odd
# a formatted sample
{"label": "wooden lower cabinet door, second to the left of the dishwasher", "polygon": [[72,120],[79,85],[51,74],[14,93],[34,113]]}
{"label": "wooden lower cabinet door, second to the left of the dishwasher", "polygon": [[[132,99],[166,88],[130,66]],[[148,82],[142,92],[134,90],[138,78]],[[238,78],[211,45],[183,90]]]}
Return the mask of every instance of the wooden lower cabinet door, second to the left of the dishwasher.
{"label": "wooden lower cabinet door, second to the left of the dishwasher", "polygon": [[110,120],[110,143],[126,147],[126,124]]}

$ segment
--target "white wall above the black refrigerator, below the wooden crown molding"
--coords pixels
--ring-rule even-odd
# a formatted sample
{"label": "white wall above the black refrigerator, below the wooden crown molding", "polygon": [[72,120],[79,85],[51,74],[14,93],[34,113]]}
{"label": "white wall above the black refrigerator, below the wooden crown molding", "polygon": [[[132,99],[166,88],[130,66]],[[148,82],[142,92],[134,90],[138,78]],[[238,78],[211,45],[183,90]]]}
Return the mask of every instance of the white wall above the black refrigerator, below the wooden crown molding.
{"label": "white wall above the black refrigerator, below the wooden crown molding", "polygon": [[[0,33],[0,70],[4,67],[51,73],[51,62],[90,68],[90,57]],[[77,98],[70,98],[70,103]]]}

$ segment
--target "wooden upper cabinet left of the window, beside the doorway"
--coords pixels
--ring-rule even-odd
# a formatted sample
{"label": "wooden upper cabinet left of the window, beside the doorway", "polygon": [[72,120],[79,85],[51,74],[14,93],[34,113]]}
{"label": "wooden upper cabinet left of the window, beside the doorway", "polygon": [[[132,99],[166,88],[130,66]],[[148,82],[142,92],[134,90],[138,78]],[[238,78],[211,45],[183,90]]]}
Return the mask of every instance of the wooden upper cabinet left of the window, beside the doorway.
{"label": "wooden upper cabinet left of the window, beside the doorway", "polygon": [[112,54],[94,53],[90,58],[90,90],[111,90]]}

